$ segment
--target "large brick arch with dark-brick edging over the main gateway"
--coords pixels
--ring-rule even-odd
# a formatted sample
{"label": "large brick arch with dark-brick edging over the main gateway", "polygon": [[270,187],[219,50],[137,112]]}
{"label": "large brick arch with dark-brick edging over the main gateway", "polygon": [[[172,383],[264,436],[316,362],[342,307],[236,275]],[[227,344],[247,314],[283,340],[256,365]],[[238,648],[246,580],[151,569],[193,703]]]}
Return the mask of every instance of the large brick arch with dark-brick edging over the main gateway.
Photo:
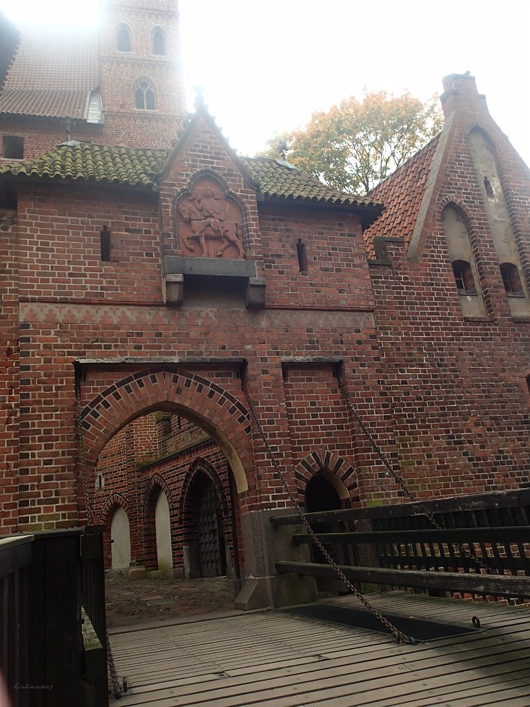
{"label": "large brick arch with dark-brick edging over the main gateway", "polygon": [[[86,460],[94,465],[119,429],[151,410],[180,414],[208,432],[230,463],[237,493],[255,488],[249,414],[230,392],[197,373],[141,370],[117,380],[81,411]],[[248,474],[248,476],[247,476]]]}

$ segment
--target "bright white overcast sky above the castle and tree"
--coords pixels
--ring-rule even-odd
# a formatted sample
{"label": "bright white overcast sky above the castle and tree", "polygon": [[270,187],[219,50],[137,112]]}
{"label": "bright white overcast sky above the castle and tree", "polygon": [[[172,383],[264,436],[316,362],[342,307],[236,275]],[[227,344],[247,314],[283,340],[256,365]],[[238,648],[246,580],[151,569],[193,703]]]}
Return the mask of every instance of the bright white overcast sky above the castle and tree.
{"label": "bright white overcast sky above the castle and tree", "polygon": [[[98,1],[0,0],[14,21],[95,25]],[[521,0],[180,0],[188,110],[194,86],[232,147],[259,153],[314,110],[366,90],[442,93],[476,76],[530,164],[530,3]]]}

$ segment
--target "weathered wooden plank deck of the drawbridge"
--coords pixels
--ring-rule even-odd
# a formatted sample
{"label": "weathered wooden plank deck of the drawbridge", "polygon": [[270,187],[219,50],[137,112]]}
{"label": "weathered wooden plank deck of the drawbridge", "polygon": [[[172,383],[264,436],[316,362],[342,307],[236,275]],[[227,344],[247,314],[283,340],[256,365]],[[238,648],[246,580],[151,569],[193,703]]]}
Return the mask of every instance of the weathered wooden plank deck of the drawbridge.
{"label": "weathered wooden plank deck of the drawbridge", "polygon": [[[381,612],[487,629],[418,645],[282,612],[114,633],[116,707],[530,706],[530,609],[370,595]],[[355,597],[326,600],[359,608]]]}

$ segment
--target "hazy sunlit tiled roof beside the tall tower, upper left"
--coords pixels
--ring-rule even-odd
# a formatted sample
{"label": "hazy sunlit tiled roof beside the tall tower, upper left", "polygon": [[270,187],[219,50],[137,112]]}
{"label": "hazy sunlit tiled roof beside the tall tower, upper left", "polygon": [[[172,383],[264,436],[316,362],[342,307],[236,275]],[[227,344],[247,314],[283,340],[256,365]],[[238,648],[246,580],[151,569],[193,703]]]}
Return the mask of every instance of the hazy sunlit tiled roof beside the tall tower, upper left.
{"label": "hazy sunlit tiled roof beside the tall tower, upper left", "polygon": [[99,86],[98,67],[95,32],[23,27],[0,112],[81,118],[88,91]]}

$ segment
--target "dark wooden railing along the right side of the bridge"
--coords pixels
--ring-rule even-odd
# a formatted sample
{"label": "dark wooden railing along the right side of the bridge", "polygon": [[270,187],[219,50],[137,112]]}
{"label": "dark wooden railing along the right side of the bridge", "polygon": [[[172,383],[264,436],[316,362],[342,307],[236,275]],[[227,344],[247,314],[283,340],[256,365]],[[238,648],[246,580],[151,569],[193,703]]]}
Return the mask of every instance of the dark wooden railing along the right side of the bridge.
{"label": "dark wooden railing along the right side of the bridge", "polygon": [[[441,530],[425,513],[432,514]],[[433,594],[530,598],[529,491],[308,513],[307,519],[342,526],[340,532],[317,534],[327,547],[355,558],[341,566],[355,582]],[[279,516],[271,523],[299,525],[300,518]],[[312,543],[312,538],[296,533],[293,541]],[[334,576],[320,562],[280,561],[276,568],[280,573]]]}

